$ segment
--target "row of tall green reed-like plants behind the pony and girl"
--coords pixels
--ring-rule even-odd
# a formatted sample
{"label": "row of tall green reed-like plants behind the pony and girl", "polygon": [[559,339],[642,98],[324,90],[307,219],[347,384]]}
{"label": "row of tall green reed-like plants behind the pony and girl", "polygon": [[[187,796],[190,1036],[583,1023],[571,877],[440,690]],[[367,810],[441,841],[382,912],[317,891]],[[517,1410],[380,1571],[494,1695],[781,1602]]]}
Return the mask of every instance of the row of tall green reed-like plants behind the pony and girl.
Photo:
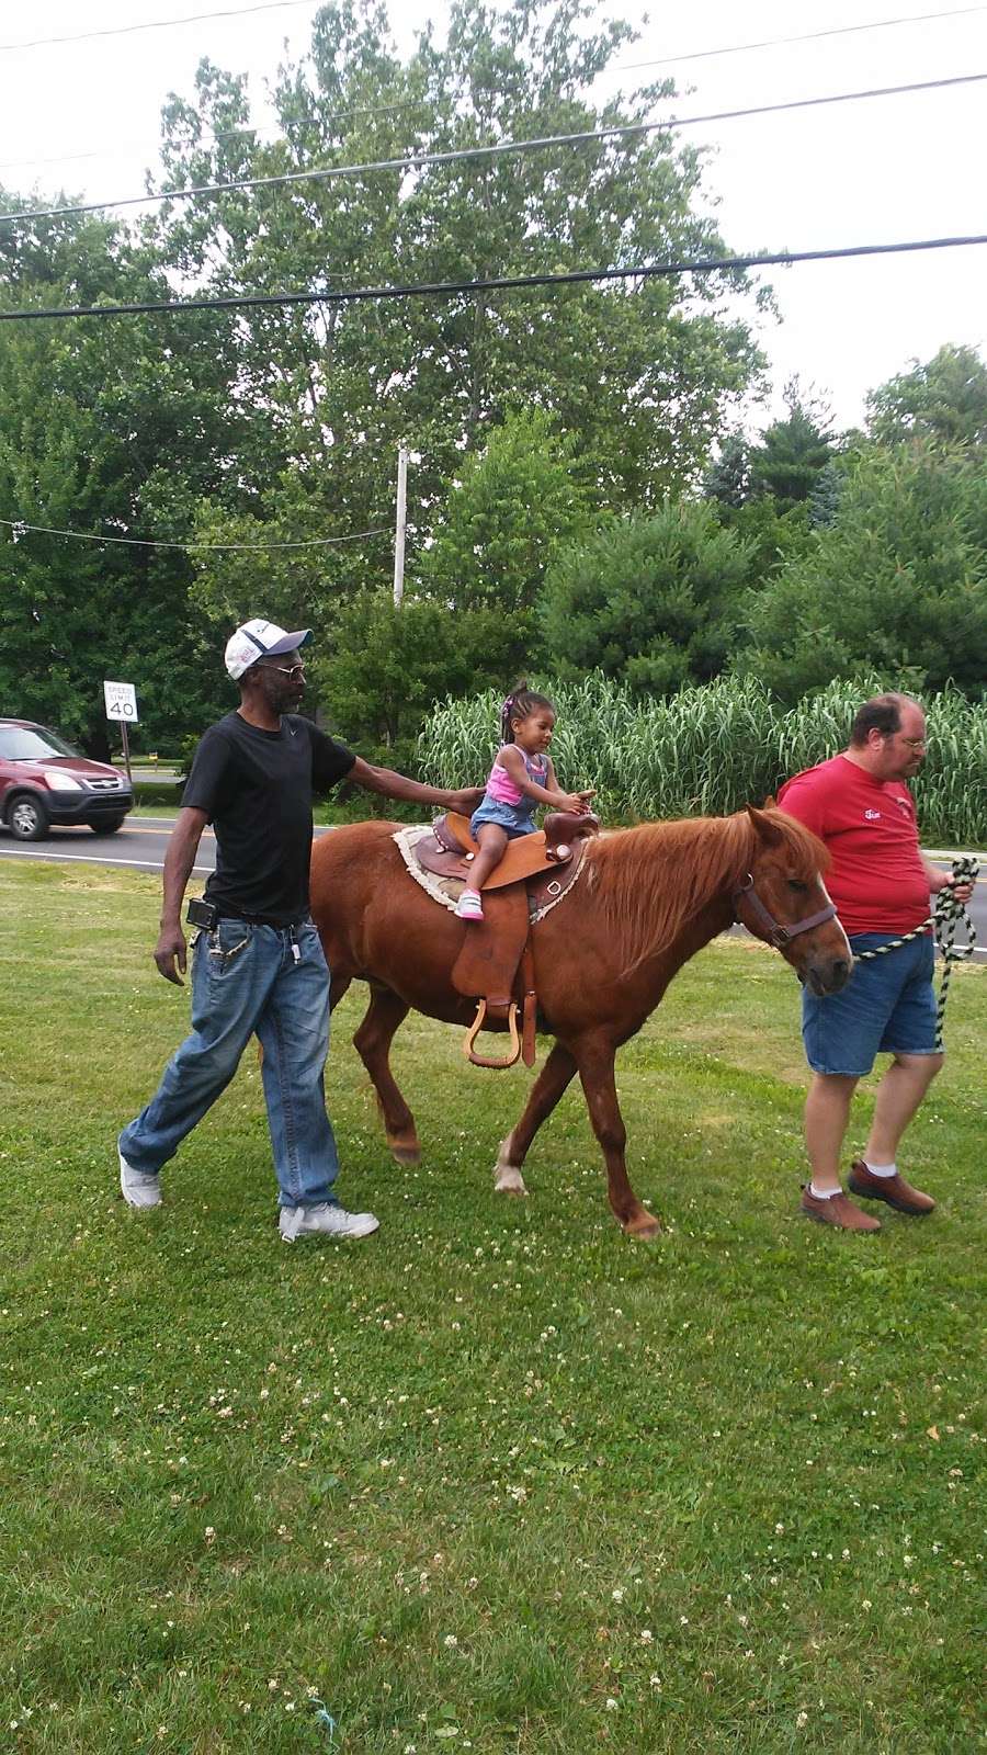
{"label": "row of tall green reed-like plants behind the pony and girl", "polygon": [[[604,676],[544,686],[557,707],[551,758],[562,786],[595,786],[604,821],[725,816],[762,802],[783,779],[847,746],[876,677],[831,683],[778,707],[755,677],[720,677],[641,700]],[[929,751],[915,802],[929,846],[987,844],[987,702],[947,691],[924,702]],[[481,781],[497,749],[501,695],[439,704],[418,741],[421,777]]]}

